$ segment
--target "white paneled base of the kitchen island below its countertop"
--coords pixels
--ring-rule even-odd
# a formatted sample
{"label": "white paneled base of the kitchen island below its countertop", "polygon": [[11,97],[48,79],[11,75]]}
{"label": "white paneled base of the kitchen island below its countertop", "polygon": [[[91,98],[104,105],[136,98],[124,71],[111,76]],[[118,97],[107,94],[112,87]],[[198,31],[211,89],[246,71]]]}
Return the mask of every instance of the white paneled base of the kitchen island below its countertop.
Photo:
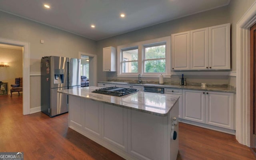
{"label": "white paneled base of the kitchen island below its countertop", "polygon": [[[178,103],[167,116],[69,96],[69,127],[126,160],[174,160],[178,155]],[[175,130],[177,139],[171,139]]]}

